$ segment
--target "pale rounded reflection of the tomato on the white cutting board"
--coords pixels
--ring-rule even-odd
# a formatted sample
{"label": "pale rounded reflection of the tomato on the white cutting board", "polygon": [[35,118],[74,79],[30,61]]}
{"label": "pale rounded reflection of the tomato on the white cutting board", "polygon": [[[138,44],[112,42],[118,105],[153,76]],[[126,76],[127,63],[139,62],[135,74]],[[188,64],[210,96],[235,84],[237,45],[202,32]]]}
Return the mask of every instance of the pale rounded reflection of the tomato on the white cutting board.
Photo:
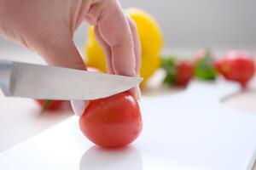
{"label": "pale rounded reflection of the tomato on the white cutting board", "polygon": [[103,149],[92,146],[79,163],[80,170],[143,170],[139,152],[132,146],[120,149]]}

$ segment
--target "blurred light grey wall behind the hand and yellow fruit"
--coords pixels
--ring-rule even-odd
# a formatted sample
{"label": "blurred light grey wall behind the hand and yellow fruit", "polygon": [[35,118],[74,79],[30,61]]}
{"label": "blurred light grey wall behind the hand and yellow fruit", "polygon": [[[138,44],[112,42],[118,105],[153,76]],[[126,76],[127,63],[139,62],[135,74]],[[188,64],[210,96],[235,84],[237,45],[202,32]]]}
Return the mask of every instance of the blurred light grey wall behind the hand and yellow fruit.
{"label": "blurred light grey wall behind the hand and yellow fruit", "polygon": [[[123,8],[143,8],[155,17],[164,35],[165,49],[256,47],[253,0],[120,0],[120,3]],[[83,24],[75,35],[79,48],[85,38]],[[6,48],[19,47],[0,37],[0,50]]]}

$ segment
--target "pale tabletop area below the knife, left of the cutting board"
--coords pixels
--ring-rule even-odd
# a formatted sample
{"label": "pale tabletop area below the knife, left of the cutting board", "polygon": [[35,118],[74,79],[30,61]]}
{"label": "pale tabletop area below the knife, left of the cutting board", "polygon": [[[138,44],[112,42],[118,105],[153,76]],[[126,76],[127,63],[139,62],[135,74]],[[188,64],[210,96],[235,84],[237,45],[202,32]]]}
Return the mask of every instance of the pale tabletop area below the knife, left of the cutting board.
{"label": "pale tabletop area below the knife, left of the cutting board", "polygon": [[71,116],[68,106],[42,113],[33,99],[6,98],[0,91],[0,153]]}

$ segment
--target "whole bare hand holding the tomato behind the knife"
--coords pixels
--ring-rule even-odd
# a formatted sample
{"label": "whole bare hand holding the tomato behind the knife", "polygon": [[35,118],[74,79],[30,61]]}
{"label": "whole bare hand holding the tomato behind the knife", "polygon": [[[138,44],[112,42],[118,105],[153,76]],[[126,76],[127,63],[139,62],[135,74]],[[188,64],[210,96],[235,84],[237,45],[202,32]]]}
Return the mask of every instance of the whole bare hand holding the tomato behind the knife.
{"label": "whole bare hand holding the tomato behind the knife", "polygon": [[[85,20],[95,26],[97,42],[107,55],[108,72],[135,77],[140,69],[140,42],[134,22],[118,0],[1,0],[0,35],[29,48],[49,65],[86,70],[73,42]],[[131,94],[139,98],[139,88]],[[72,101],[81,116],[88,102]]]}

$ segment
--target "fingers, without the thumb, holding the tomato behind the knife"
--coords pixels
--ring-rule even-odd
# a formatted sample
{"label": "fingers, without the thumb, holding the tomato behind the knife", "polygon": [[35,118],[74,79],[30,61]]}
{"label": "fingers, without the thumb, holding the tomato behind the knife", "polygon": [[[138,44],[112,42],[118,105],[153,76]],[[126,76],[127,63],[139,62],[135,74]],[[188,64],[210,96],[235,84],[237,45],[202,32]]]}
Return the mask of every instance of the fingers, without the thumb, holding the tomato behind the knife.
{"label": "fingers, without the thumb, holding the tomato behind the knife", "polygon": [[[102,1],[89,9],[85,18],[95,26],[95,36],[108,59],[108,71],[125,76],[137,76],[140,69],[140,42],[135,24],[128,20],[119,3]],[[138,98],[139,88],[131,93]]]}

